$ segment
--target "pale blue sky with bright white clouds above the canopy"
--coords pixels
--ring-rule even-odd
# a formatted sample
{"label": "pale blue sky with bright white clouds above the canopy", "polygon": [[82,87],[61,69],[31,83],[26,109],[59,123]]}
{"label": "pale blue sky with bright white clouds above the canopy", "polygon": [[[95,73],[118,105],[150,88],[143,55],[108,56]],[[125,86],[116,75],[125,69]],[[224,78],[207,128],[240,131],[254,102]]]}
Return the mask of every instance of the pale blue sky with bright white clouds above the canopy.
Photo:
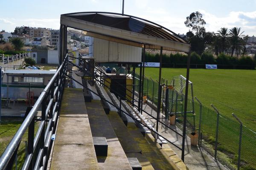
{"label": "pale blue sky with bright white clouds above the canopy", "polygon": [[[61,14],[78,11],[122,12],[122,0],[1,0],[0,30],[16,26],[59,28]],[[158,23],[175,33],[186,34],[184,21],[200,11],[207,31],[242,27],[256,35],[256,0],[125,0],[125,14]]]}

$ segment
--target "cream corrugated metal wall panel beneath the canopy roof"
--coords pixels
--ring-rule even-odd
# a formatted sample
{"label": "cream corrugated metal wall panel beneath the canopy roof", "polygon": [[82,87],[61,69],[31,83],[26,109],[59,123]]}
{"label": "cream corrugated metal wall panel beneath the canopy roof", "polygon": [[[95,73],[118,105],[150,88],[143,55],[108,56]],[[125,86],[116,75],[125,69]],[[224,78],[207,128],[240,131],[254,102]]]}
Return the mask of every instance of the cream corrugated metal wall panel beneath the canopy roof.
{"label": "cream corrugated metal wall panel beneath the canopy roof", "polygon": [[93,38],[96,62],[141,62],[142,48]]}

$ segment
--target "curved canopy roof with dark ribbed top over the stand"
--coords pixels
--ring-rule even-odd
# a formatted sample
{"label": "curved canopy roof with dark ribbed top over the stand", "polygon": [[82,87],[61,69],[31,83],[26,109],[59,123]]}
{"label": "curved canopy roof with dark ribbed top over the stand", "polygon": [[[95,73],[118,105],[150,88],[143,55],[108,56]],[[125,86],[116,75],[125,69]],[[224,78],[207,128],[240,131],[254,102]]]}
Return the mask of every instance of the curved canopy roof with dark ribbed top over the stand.
{"label": "curved canopy roof with dark ribbed top over the stand", "polygon": [[[81,34],[138,47],[189,52],[190,45],[163,26],[131,15],[77,12],[61,15],[61,24]],[[69,31],[72,31],[70,29]]]}

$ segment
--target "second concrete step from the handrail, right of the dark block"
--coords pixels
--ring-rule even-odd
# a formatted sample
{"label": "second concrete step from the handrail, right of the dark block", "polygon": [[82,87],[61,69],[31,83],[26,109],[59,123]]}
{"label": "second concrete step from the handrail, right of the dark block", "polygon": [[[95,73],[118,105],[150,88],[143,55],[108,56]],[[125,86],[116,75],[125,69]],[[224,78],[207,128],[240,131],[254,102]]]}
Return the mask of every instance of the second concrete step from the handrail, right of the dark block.
{"label": "second concrete step from the handrail, right of the dark block", "polygon": [[93,137],[105,137],[108,142],[108,156],[97,156],[99,169],[131,170],[131,165],[116,137],[100,100],[85,102]]}

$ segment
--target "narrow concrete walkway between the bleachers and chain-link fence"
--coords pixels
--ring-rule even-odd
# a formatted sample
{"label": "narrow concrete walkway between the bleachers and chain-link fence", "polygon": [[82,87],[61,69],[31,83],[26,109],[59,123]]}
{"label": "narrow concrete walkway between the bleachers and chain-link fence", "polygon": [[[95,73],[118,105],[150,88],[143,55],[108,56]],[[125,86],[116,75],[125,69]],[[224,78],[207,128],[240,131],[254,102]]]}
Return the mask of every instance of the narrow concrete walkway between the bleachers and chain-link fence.
{"label": "narrow concrete walkway between the bleachers and chain-link fence", "polygon": [[[154,111],[149,105],[143,104],[143,110],[148,112],[154,117],[157,117],[157,112]],[[146,118],[148,115],[146,113],[143,113],[143,116]],[[163,119],[163,114],[161,114],[160,119],[162,122],[165,122],[166,125],[169,125],[169,122],[167,119]],[[151,125],[156,128],[156,120],[150,119],[149,121]],[[176,130],[180,134],[182,134],[182,131],[178,129],[175,126],[169,125],[172,129]],[[169,139],[171,142],[175,143],[177,146],[182,147],[182,137],[177,135],[177,133],[173,132],[172,130],[168,129],[167,127],[159,124],[158,132]],[[170,144],[168,142],[169,146],[172,148],[172,150],[175,151],[175,153],[181,157],[181,150],[179,150],[174,145]],[[189,170],[225,170],[223,165],[218,163],[218,161],[215,161],[212,156],[210,156],[208,153],[203,151],[200,147],[195,147],[190,145],[190,139],[186,138],[185,143],[185,161],[184,163],[189,168]]]}

